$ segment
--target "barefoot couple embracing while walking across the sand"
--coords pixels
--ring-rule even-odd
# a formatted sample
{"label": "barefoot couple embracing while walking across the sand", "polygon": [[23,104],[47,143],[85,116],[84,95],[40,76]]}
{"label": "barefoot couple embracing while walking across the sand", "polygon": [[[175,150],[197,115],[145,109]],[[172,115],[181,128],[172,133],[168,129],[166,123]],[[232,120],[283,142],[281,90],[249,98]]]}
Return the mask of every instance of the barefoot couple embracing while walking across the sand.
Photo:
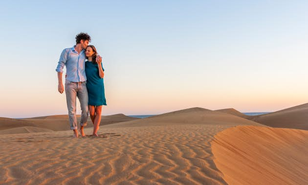
{"label": "barefoot couple embracing while walking across the sand", "polygon": [[[106,104],[104,89],[104,68],[102,57],[97,55],[96,48],[88,45],[91,37],[86,33],[79,33],[76,45],[62,51],[56,71],[58,72],[58,91],[66,92],[66,104],[70,129],[74,137],[78,137],[76,119],[76,97],[81,107],[80,134],[86,136],[84,127],[87,126],[88,114],[94,125],[93,136],[101,122],[102,106]],[[65,89],[63,86],[63,68],[66,66]]]}

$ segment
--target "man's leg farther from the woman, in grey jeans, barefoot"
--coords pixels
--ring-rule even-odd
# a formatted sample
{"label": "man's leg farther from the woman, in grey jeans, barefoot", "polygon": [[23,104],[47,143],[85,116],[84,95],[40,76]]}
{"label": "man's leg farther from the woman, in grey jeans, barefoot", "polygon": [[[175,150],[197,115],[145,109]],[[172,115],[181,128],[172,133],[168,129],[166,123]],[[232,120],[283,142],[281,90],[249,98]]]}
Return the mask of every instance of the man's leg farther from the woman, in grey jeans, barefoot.
{"label": "man's leg farther from the woman, in grey jeans, barefoot", "polygon": [[65,83],[66,92],[66,104],[68,110],[70,129],[74,130],[74,134],[78,137],[77,119],[76,119],[76,96],[77,96],[77,84],[66,81]]}

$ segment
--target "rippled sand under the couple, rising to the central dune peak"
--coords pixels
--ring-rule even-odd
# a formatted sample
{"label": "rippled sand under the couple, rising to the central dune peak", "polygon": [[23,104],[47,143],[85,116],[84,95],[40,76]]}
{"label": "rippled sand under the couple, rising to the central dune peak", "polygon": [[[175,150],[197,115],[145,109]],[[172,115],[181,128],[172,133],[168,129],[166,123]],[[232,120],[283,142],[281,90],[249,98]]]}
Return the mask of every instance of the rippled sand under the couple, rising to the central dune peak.
{"label": "rippled sand under the couple, rising to the central dune peak", "polygon": [[99,138],[72,139],[71,131],[1,135],[0,183],[226,184],[210,142],[239,123],[260,125],[194,108],[101,126]]}

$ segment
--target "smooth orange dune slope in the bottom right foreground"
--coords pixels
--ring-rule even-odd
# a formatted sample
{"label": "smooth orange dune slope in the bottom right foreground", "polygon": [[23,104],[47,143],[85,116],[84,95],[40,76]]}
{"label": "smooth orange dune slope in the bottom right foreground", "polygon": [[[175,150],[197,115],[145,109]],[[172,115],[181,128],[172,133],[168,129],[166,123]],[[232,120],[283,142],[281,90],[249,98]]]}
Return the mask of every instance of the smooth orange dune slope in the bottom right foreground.
{"label": "smooth orange dune slope in the bottom right foreground", "polygon": [[306,130],[238,126],[218,133],[212,151],[228,184],[308,184]]}

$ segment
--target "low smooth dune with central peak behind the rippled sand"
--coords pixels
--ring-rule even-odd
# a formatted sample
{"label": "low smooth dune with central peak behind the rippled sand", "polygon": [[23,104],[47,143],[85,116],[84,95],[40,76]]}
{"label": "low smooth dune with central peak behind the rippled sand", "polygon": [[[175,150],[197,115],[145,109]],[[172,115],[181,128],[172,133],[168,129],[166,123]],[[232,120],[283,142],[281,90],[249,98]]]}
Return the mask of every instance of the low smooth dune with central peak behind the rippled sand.
{"label": "low smooth dune with central peak behind the rippled sand", "polygon": [[155,115],[148,118],[116,123],[110,127],[139,127],[139,126],[161,126],[161,125],[256,125],[259,123],[219,111],[211,111],[203,108],[191,108]]}

